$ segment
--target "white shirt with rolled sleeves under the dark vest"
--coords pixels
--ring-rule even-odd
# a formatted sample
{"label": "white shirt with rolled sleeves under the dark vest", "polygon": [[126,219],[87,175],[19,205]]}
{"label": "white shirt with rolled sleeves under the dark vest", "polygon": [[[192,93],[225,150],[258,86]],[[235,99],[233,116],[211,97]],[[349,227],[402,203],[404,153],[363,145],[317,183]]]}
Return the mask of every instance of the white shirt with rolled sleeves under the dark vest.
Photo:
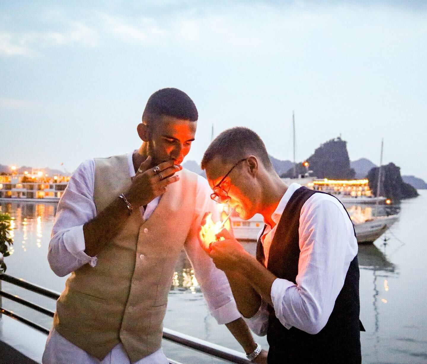
{"label": "white shirt with rolled sleeves under the dark vest", "polygon": [[[271,228],[267,224],[261,236],[266,266],[277,224],[290,197],[300,187],[298,183],[288,187],[272,214],[276,225]],[[344,285],[348,267],[357,254],[357,240],[342,204],[324,193],[315,193],[304,203],[298,233],[296,284],[277,278],[271,288],[271,299],[276,317],[284,327],[317,334],[328,322]],[[267,305],[262,303],[257,314],[245,320],[262,336],[267,332],[268,315]]]}

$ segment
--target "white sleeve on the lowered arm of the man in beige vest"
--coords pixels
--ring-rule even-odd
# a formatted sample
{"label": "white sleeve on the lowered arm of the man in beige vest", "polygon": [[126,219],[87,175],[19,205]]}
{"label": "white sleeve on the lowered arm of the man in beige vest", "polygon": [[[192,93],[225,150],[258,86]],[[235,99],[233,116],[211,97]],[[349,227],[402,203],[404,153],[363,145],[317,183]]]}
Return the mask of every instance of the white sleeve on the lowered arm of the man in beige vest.
{"label": "white sleeve on the lowered arm of the man in beige vest", "polygon": [[202,288],[209,311],[219,324],[223,324],[237,320],[241,315],[225,273],[215,267],[211,257],[205,253],[199,242],[199,229],[205,212],[212,213],[213,221],[219,220],[216,202],[210,198],[211,193],[208,182],[199,176],[194,219],[185,242],[185,251]]}

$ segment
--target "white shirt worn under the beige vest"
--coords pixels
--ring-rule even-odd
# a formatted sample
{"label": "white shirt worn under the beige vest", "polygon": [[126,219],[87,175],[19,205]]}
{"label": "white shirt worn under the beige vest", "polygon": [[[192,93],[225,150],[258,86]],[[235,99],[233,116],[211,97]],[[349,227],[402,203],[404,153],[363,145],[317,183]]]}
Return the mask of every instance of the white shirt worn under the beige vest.
{"label": "white shirt worn under the beige vest", "polygon": [[[128,154],[129,175],[131,178],[135,176],[132,153]],[[94,159],[86,160],[73,173],[58,203],[47,259],[50,268],[60,277],[76,271],[76,269],[87,263],[92,267],[97,264],[97,257],[88,256],[84,251],[85,237],[83,235],[83,225],[97,215],[94,203],[94,177],[95,161]],[[219,219],[216,203],[210,198],[211,193],[211,188],[205,178],[198,176],[194,226],[190,229],[192,238],[187,239],[184,249],[194,268],[197,281],[202,288],[212,316],[219,324],[222,324],[237,320],[241,315],[237,311],[227,277],[223,271],[215,267],[212,259],[199,245],[199,224],[205,212],[211,211],[214,221]],[[160,198],[161,196],[151,201],[146,210],[140,207],[144,219],[150,217]],[[129,358],[120,343],[102,361],[99,361],[70,341],[67,341],[52,328],[47,338],[43,363],[128,364]],[[167,363],[163,350],[159,349],[137,361],[136,364]]]}

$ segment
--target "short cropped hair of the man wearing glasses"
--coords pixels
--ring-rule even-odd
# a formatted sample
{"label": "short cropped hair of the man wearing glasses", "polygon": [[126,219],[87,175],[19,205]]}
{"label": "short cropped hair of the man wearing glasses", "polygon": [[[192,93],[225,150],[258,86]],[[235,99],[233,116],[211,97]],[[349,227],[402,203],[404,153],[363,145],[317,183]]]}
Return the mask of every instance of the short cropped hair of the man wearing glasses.
{"label": "short cropped hair of the man wearing glasses", "polygon": [[266,146],[259,135],[249,128],[237,126],[224,130],[212,141],[203,155],[201,168],[206,169],[206,165],[215,157],[224,162],[235,163],[250,155],[259,158],[266,169],[273,168]]}

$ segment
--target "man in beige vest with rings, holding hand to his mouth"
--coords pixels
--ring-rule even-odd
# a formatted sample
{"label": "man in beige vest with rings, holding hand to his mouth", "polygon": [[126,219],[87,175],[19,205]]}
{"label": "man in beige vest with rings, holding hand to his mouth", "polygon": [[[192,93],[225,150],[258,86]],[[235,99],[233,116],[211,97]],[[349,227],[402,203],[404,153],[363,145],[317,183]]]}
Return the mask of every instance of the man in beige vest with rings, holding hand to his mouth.
{"label": "man in beige vest with rings, holding hand to his mouth", "polygon": [[43,363],[168,363],[163,318],[182,248],[213,317],[248,354],[257,348],[227,278],[199,246],[202,216],[216,209],[205,179],[181,167],[197,119],[187,94],[158,90],[137,126],[138,150],[87,160],[74,172],[58,204],[48,256],[57,275],[71,276]]}

